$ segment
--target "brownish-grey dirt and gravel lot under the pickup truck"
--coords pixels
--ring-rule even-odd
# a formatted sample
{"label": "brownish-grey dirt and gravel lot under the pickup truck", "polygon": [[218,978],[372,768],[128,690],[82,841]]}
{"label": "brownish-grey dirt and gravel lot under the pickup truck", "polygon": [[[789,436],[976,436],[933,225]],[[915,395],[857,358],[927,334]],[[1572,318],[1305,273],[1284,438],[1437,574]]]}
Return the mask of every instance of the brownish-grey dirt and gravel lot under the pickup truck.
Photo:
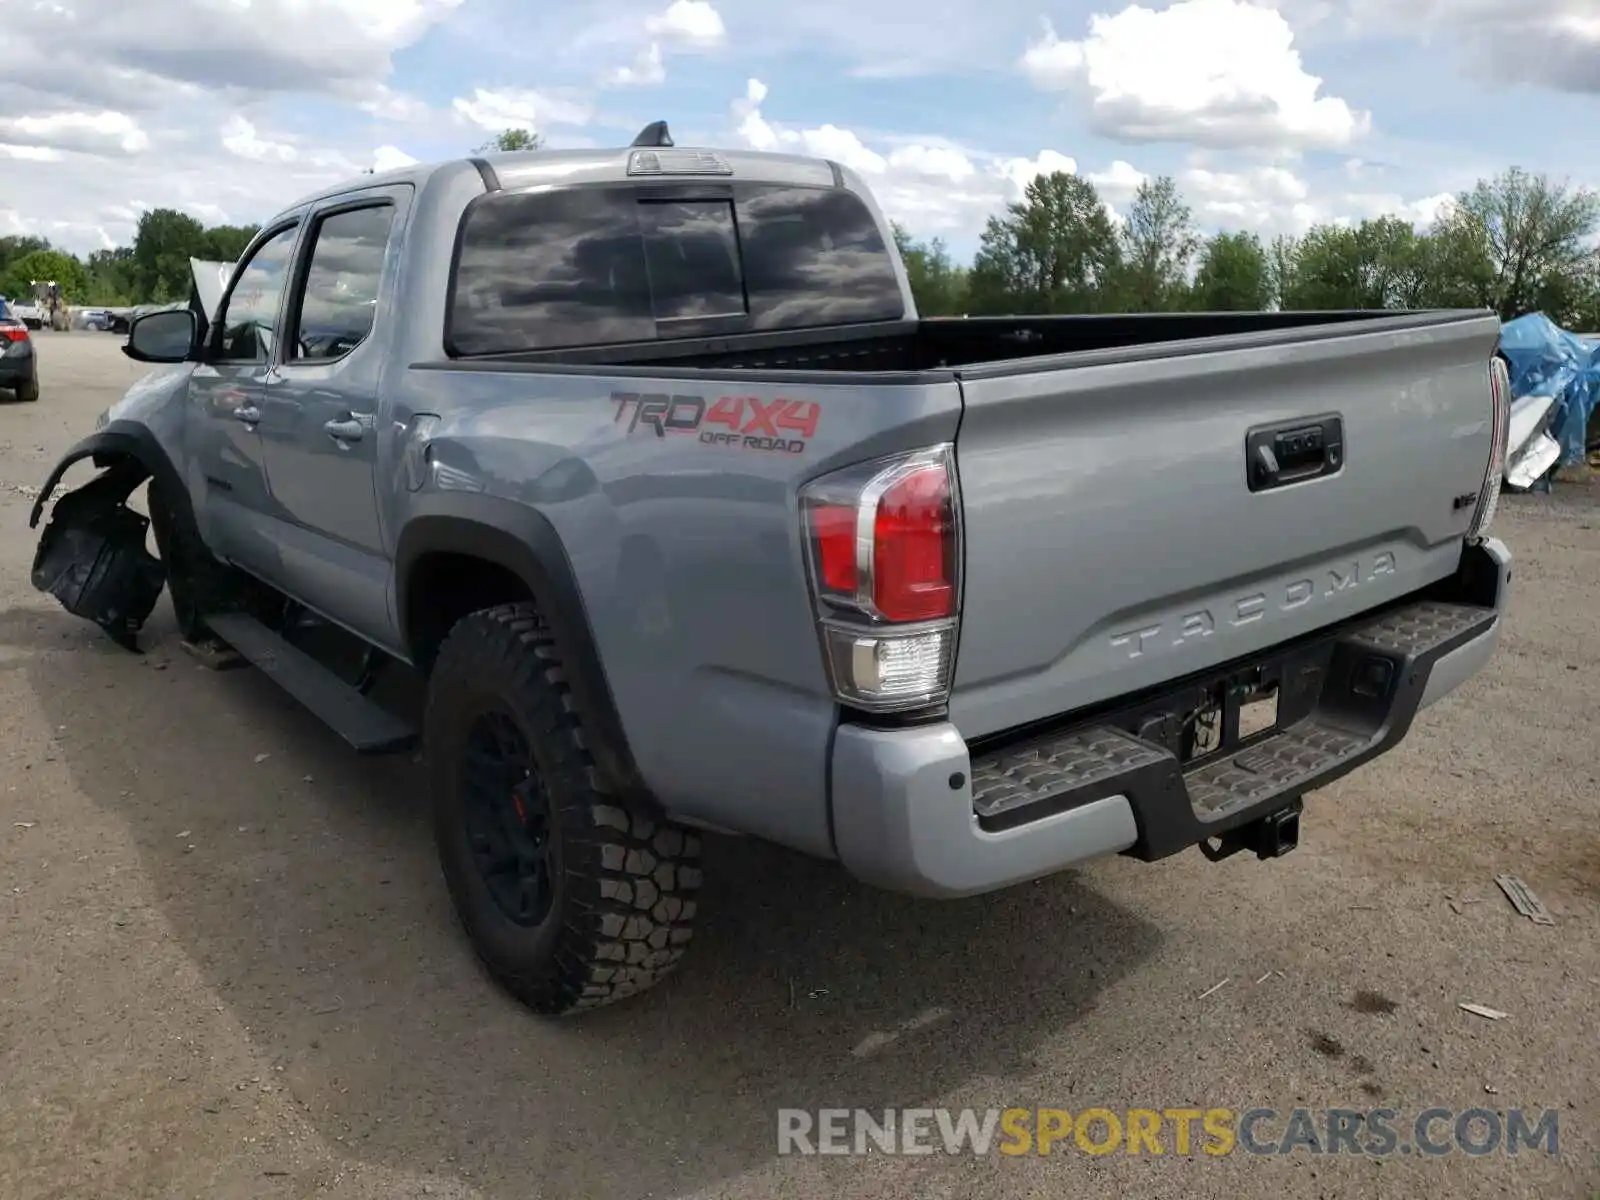
{"label": "brownish-grey dirt and gravel lot under the pickup truck", "polygon": [[[722,842],[683,973],[550,1026],[475,968],[411,763],[200,669],[165,602],[139,658],[30,589],[29,493],[136,376],[110,336],[38,342],[43,398],[0,405],[8,1200],[1600,1187],[1600,490],[1506,501],[1491,670],[1286,859],[918,904]],[[776,1109],[822,1106],[1550,1107],[1560,1154],[781,1158]]]}

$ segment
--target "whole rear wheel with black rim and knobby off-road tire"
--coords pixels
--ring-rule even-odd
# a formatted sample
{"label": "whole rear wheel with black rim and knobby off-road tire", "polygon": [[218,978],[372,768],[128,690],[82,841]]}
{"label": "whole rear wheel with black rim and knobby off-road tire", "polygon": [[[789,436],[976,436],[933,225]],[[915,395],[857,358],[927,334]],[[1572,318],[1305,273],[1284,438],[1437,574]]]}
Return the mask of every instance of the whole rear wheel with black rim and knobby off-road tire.
{"label": "whole rear wheel with black rim and knobby off-road tire", "polygon": [[507,990],[555,1016],[643,992],[677,966],[699,837],[600,790],[538,608],[488,608],[450,632],[424,728],[445,882]]}

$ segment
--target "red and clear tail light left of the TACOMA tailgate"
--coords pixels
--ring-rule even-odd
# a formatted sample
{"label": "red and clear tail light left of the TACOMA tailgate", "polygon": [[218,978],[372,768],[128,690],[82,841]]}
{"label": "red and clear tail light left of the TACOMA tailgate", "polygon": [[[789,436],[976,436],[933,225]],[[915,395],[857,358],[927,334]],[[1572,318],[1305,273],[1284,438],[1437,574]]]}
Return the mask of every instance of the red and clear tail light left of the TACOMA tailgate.
{"label": "red and clear tail light left of the TACOMA tailgate", "polygon": [[962,595],[952,448],[824,475],[800,510],[835,696],[869,712],[942,704]]}

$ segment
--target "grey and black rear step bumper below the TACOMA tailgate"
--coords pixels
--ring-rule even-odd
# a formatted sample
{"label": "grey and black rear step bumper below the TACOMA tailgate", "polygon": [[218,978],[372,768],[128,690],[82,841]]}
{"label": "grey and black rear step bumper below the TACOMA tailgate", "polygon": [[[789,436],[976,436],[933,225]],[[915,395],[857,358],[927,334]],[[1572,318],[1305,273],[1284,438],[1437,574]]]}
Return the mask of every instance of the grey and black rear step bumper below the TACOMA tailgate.
{"label": "grey and black rear step bumper below the TACOMA tailgate", "polygon": [[[838,858],[893,891],[968,896],[1107,854],[1166,858],[1248,826],[1392,749],[1421,709],[1482,670],[1509,586],[1502,542],[1467,546],[1438,589],[1205,680],[1282,677],[1282,720],[1189,768],[1160,714],[1202,682],[976,755],[949,723],[843,725],[832,762]],[[1376,667],[1373,694],[1378,662],[1389,666]]]}

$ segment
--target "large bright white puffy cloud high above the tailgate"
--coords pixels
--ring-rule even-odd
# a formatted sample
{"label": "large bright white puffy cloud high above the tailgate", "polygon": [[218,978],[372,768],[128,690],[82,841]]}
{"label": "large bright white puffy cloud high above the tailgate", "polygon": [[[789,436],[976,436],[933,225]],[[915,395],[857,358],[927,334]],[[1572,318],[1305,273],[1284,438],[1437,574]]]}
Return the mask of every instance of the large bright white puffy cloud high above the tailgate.
{"label": "large bright white puffy cloud high above the tailgate", "polygon": [[1245,0],[1130,5],[1062,40],[1048,22],[1021,59],[1035,86],[1090,99],[1096,133],[1211,147],[1331,149],[1366,134],[1371,115],[1306,72],[1294,32]]}

